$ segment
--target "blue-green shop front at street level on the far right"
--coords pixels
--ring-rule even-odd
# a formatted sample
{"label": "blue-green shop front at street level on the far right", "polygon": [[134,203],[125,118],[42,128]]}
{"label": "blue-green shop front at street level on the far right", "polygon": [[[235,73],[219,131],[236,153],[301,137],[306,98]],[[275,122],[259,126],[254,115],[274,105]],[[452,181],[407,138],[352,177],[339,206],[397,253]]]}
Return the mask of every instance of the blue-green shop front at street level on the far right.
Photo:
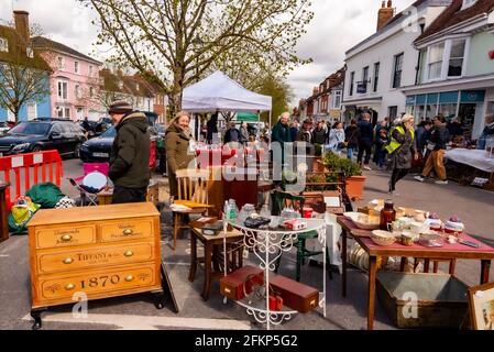
{"label": "blue-green shop front at street level on the far right", "polygon": [[450,90],[409,95],[406,112],[413,114],[416,123],[442,116],[451,121],[458,118],[465,138],[476,139],[484,128],[484,117],[493,102],[487,101],[487,89]]}

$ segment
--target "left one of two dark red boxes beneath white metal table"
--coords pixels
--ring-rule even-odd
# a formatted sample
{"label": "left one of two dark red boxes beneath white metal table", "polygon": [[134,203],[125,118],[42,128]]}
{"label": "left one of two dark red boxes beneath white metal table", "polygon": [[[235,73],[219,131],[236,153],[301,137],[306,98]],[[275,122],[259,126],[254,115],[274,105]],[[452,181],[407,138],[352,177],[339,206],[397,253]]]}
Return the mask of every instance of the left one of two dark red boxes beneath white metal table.
{"label": "left one of two dark red boxes beneath white metal table", "polygon": [[221,278],[220,292],[232,300],[241,300],[252,294],[254,285],[264,285],[264,271],[259,267],[244,266]]}

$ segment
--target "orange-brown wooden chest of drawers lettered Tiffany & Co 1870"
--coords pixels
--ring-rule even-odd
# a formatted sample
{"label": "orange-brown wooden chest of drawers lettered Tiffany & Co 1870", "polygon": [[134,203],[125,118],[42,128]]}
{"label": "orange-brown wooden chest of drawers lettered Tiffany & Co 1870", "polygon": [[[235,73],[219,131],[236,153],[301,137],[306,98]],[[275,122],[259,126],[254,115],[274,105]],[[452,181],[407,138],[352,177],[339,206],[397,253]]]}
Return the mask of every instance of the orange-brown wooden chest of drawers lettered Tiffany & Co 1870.
{"label": "orange-brown wooden chest of drawers lettered Tiffany & Co 1870", "polygon": [[88,300],[163,294],[153,204],[40,210],[29,237],[32,316],[40,327],[39,311],[76,304],[83,294]]}

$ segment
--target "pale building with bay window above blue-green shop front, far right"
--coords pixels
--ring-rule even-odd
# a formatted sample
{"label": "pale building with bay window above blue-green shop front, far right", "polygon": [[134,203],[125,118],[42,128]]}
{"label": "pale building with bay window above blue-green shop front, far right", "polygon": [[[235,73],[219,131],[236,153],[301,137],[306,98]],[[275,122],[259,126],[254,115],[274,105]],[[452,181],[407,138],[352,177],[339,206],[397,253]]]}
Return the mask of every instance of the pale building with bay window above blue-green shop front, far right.
{"label": "pale building with bay window above blue-green shop front, far right", "polygon": [[415,41],[420,51],[417,85],[403,87],[417,121],[458,118],[476,140],[494,113],[494,0],[455,0]]}

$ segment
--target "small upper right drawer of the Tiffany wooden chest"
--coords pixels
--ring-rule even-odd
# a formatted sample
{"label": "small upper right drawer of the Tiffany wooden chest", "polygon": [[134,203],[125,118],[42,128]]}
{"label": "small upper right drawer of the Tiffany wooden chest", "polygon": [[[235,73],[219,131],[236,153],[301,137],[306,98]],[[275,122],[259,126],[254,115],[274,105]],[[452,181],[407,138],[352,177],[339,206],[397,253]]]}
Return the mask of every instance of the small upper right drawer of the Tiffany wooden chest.
{"label": "small upper right drawer of the Tiffany wooden chest", "polygon": [[154,238],[154,219],[109,221],[99,226],[101,242],[133,241]]}

